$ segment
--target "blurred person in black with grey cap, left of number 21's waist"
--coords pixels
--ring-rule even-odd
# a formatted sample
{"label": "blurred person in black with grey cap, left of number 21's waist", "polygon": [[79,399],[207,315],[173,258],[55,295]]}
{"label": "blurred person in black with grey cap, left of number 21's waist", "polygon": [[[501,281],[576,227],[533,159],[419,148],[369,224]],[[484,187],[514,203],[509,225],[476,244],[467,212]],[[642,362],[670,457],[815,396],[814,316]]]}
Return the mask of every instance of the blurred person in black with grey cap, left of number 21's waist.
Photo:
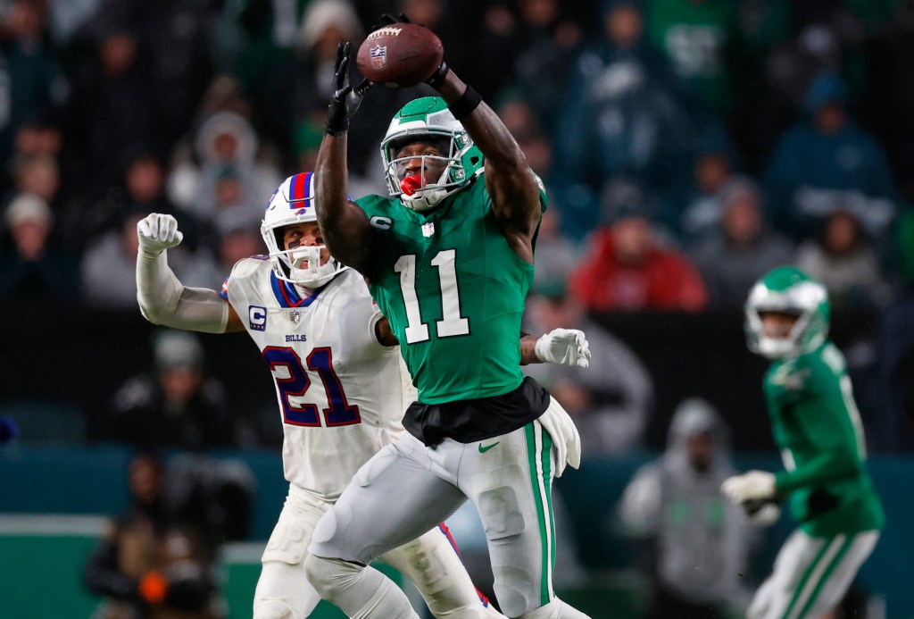
{"label": "blurred person in black with grey cap, left of number 21's waist", "polygon": [[232,416],[224,386],[207,372],[197,336],[156,332],[154,358],[153,372],[128,379],[106,415],[90,420],[90,439],[190,451],[253,443]]}

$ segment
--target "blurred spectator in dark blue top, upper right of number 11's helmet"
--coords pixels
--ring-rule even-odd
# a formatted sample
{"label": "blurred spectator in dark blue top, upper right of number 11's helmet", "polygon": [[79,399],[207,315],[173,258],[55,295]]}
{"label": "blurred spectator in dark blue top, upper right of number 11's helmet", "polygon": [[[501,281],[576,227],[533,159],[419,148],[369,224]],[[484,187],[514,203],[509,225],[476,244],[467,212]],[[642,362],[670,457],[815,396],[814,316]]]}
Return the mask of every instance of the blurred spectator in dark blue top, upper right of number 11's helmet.
{"label": "blurred spectator in dark blue top, upper right of number 11's helmet", "polygon": [[671,187],[691,157],[699,128],[685,87],[643,40],[635,3],[611,3],[605,37],[584,48],[571,71],[553,139],[555,191],[567,228],[583,237],[598,223],[597,196],[613,176]]}

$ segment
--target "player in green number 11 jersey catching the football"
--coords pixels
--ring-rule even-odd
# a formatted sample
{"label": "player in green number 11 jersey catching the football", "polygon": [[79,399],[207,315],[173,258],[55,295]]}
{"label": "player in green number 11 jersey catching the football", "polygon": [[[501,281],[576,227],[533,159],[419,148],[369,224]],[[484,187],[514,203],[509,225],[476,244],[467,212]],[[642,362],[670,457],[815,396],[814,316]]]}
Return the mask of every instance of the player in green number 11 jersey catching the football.
{"label": "player in green number 11 jersey catching the football", "polygon": [[[384,20],[390,31],[409,21]],[[514,341],[546,189],[498,115],[441,61],[427,80],[441,96],[407,103],[381,143],[389,195],[350,200],[347,133],[366,87],[348,83],[349,47],[338,49],[317,159],[318,219],[334,255],[367,277],[419,396],[403,420],[409,433],[373,457],[315,528],[309,579],[350,616],[414,616],[368,564],[469,499],[502,611],[585,616],[551,579],[552,480],[579,465],[578,431],[524,377]]]}

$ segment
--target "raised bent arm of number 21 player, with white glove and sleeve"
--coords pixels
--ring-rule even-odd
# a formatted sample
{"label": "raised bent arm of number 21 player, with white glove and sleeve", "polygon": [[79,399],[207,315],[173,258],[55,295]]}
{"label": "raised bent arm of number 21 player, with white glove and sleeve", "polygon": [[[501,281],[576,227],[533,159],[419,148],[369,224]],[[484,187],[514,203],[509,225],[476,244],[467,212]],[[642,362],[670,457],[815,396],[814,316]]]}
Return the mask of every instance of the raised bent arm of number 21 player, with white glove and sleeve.
{"label": "raised bent arm of number 21 player, with white glove and sleeve", "polygon": [[136,256],[136,299],[154,325],[188,331],[227,333],[244,325],[228,301],[209,288],[187,288],[168,266],[167,250],[184,235],[171,215],[153,213],[136,225],[140,249]]}

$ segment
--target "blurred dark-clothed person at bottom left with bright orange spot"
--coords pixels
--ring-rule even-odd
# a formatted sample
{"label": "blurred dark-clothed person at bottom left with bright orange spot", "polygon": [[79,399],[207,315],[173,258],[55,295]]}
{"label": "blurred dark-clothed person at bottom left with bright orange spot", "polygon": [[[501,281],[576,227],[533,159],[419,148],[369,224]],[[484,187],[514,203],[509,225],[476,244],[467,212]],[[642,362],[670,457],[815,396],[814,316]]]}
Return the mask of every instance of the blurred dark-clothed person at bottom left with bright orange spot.
{"label": "blurred dark-clothed person at bottom left with bright orange spot", "polygon": [[165,466],[137,454],[129,465],[131,507],[113,518],[83,569],[106,598],[99,619],[218,619],[213,549],[165,500]]}

